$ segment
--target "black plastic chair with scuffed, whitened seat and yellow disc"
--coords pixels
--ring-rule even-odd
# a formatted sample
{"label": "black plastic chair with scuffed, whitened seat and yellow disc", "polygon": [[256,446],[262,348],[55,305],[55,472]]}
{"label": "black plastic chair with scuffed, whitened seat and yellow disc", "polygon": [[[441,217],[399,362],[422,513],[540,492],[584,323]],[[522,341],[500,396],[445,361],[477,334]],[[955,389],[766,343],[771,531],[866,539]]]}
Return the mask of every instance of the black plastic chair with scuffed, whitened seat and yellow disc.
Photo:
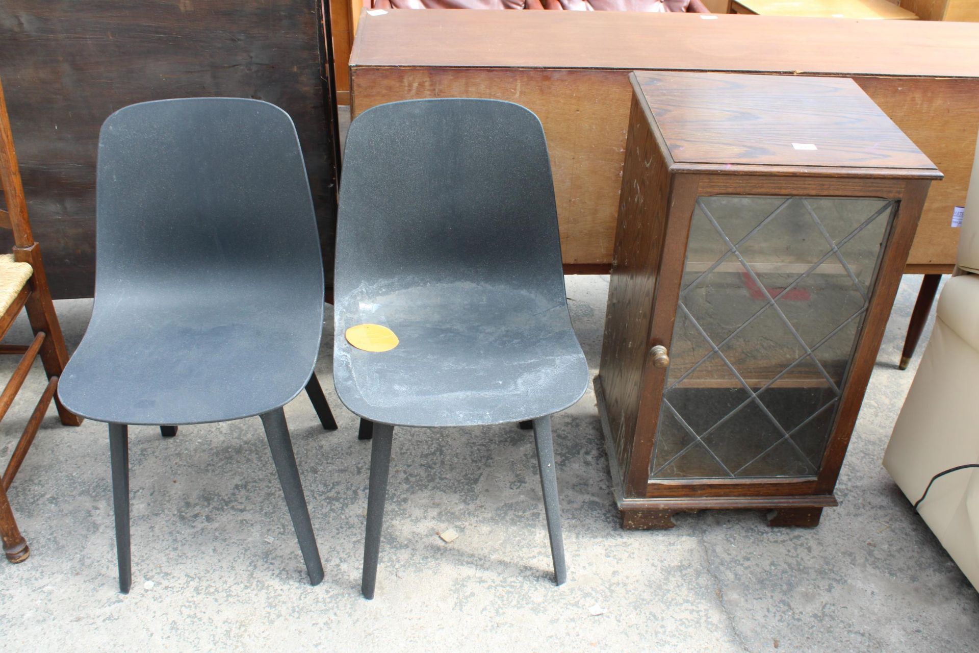
{"label": "black plastic chair with scuffed, whitened seat and yellow disc", "polygon": [[[377,576],[395,426],[533,420],[554,574],[564,546],[550,415],[588,369],[565,297],[543,129],[495,100],[396,102],[350,124],[335,277],[334,383],[373,435],[361,590]],[[346,330],[391,328],[394,350]]]}

